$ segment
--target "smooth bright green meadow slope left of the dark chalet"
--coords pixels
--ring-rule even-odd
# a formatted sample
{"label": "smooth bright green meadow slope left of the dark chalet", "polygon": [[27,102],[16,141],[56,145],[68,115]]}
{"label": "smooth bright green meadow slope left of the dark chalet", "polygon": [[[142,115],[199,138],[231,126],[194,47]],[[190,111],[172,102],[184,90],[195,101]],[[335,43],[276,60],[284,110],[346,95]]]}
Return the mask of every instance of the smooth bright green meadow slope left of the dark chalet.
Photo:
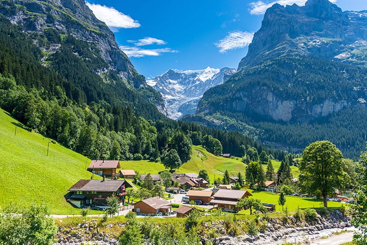
{"label": "smooth bright green meadow slope left of the dark chalet", "polygon": [[[17,134],[15,128],[17,126]],[[53,214],[79,214],[64,195],[76,181],[91,178],[90,160],[51,139],[31,133],[0,109],[0,205],[44,202]]]}

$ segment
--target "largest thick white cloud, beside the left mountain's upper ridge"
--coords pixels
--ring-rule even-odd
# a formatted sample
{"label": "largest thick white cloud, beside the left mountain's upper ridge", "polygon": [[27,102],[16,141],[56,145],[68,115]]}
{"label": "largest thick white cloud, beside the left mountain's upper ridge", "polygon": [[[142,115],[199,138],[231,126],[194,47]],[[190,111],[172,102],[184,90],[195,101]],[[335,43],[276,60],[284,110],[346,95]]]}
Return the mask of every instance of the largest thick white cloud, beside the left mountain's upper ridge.
{"label": "largest thick white cloud, beside the left mountain's upper ridge", "polygon": [[136,28],[140,26],[138,21],[133,20],[130,16],[118,12],[112,7],[89,2],[86,2],[86,4],[92,10],[95,17],[98,20],[105,22],[110,28]]}

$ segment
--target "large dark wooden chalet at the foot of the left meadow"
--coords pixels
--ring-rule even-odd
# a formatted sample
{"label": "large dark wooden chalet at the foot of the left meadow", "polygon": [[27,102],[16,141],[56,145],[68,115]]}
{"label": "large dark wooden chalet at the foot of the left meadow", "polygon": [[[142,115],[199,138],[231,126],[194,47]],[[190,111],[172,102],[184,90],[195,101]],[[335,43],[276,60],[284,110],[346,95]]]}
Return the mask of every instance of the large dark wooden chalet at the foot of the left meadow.
{"label": "large dark wooden chalet at the foot of the left meadow", "polygon": [[116,195],[122,205],[128,187],[132,186],[125,180],[80,179],[69,188],[72,196],[68,201],[78,208],[106,208],[107,198]]}

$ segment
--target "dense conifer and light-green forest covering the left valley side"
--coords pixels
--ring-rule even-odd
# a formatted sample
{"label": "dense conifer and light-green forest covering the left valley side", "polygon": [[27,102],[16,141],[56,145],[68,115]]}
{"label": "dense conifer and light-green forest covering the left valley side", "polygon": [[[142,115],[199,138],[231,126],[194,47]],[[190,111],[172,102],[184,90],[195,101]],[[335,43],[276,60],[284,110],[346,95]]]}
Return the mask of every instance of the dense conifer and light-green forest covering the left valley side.
{"label": "dense conifer and light-green forest covering the left valley side", "polygon": [[[3,12],[14,3],[2,1],[0,6]],[[92,42],[55,30],[27,32],[23,25],[0,18],[0,107],[84,156],[160,161],[170,149],[181,149],[183,142],[189,149],[205,135],[219,139],[223,151],[234,156],[243,156],[249,147],[277,159],[288,154],[242,134],[170,120],[139,94],[146,89],[156,96],[150,87],[133,87],[115,72],[95,72],[109,65]],[[40,49],[41,39],[46,47],[58,44],[57,50]],[[178,152],[187,158],[187,152]]]}

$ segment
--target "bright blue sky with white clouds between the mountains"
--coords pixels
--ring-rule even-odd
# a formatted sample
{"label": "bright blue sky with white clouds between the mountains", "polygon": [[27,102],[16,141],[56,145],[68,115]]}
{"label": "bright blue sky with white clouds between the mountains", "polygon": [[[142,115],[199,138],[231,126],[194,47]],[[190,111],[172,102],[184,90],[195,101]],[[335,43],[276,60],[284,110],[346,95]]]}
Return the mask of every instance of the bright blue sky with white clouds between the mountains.
{"label": "bright blue sky with white clouds between the mountains", "polygon": [[[206,67],[237,68],[266,8],[306,0],[88,0],[94,15],[146,78]],[[366,0],[330,0],[343,10],[367,10]]]}

